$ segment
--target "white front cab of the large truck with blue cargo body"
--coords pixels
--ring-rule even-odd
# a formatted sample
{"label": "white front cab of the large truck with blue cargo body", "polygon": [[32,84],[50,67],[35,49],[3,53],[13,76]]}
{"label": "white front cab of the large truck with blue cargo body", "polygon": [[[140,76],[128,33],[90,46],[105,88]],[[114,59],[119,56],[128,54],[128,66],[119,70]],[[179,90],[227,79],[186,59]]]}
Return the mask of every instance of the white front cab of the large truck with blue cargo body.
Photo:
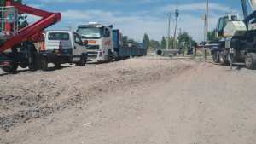
{"label": "white front cab of the large truck with blue cargo body", "polygon": [[88,43],[90,61],[108,61],[113,58],[113,26],[97,23],[78,26],[77,32],[84,43]]}

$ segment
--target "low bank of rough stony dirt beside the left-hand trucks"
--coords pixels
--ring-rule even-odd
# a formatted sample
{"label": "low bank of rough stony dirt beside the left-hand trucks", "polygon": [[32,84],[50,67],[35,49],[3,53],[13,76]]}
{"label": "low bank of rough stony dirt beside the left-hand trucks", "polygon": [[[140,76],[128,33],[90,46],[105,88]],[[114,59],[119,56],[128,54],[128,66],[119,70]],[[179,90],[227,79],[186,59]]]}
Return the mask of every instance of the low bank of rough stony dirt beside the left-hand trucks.
{"label": "low bank of rough stony dirt beside the left-hand trucks", "polygon": [[188,69],[191,61],[140,58],[53,72],[0,77],[0,130],[67,107],[84,107],[94,97],[124,85],[154,83]]}

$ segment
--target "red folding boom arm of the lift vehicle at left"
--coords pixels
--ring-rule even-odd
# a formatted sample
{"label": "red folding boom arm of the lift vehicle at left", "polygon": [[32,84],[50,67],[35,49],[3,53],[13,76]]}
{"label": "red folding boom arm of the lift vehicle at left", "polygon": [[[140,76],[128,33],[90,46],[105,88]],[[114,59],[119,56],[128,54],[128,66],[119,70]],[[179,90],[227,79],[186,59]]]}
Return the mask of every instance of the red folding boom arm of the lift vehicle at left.
{"label": "red folding boom arm of the lift vehicle at left", "polygon": [[[50,13],[41,9],[35,9],[21,3],[15,3],[13,0],[6,0],[6,6],[14,6],[20,14],[32,14],[42,17],[41,20],[20,29],[14,36],[9,37],[3,45],[0,46],[0,52],[13,48],[15,45],[34,40],[33,37],[41,34],[45,28],[54,25],[61,20],[61,13]],[[5,31],[10,31],[12,24],[6,23]]]}

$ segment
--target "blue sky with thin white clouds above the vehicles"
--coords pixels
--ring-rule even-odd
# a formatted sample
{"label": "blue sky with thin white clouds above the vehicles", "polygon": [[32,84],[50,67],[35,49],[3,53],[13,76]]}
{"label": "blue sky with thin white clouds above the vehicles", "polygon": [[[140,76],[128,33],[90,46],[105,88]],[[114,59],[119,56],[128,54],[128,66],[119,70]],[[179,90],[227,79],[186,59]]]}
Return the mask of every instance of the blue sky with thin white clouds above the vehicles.
{"label": "blue sky with thin white clouds above the vehicles", "polygon": [[[215,27],[218,17],[228,12],[241,13],[240,0],[209,0],[210,29]],[[28,5],[49,11],[61,12],[62,20],[51,29],[73,30],[79,24],[97,21],[106,25],[113,24],[124,35],[141,40],[143,33],[160,40],[166,36],[166,13],[180,9],[178,27],[189,32],[197,41],[203,39],[204,0],[24,0]],[[36,20],[31,17],[29,20]],[[174,19],[172,20],[172,33]]]}

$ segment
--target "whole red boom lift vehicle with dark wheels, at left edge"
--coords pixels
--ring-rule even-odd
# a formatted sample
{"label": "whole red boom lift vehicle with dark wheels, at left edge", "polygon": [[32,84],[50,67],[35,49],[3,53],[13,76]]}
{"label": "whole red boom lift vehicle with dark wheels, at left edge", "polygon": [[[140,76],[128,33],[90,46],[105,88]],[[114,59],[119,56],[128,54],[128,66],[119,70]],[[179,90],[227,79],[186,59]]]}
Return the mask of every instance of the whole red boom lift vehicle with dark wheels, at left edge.
{"label": "whole red boom lift vehicle with dark wheels, at left edge", "polygon": [[[0,14],[0,39],[3,42],[0,45],[0,67],[4,72],[15,72],[18,66],[38,70],[41,66],[41,55],[34,42],[44,37],[44,29],[61,20],[61,14],[35,9],[15,0],[5,0]],[[19,29],[20,14],[32,14],[42,19]]]}

